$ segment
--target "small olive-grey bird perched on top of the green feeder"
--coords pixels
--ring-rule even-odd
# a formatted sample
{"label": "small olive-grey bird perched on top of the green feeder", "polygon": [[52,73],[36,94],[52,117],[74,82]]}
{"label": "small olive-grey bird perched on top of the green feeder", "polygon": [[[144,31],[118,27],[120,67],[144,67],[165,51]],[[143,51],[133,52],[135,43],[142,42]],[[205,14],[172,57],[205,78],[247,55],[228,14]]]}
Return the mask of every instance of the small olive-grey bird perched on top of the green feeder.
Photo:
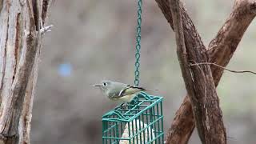
{"label": "small olive-grey bird perched on top of the green feeder", "polygon": [[123,103],[131,102],[136,94],[141,91],[152,91],[142,87],[131,86],[121,82],[112,82],[109,80],[104,80],[100,84],[95,84],[94,86],[98,86],[102,90],[102,93],[110,98],[110,100]]}

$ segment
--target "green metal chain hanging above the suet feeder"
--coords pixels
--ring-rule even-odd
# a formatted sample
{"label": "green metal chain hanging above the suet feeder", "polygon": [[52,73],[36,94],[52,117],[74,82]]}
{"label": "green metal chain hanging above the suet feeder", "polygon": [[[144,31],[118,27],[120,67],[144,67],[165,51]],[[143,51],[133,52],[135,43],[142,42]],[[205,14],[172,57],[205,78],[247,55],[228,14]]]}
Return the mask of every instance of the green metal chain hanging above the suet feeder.
{"label": "green metal chain hanging above the suet feeder", "polygon": [[141,50],[141,30],[142,30],[142,0],[138,0],[138,11],[137,11],[138,17],[137,17],[137,36],[136,36],[136,53],[135,53],[135,80],[134,85],[138,86],[139,84],[139,59],[141,57],[140,50]]}

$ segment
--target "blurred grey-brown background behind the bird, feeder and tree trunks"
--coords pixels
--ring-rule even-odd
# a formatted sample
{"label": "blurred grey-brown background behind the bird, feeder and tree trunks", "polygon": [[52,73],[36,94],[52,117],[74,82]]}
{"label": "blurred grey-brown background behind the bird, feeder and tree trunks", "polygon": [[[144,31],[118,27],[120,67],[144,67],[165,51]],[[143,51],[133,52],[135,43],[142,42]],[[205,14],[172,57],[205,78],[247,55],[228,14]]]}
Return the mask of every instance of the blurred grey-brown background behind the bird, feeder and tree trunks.
{"label": "blurred grey-brown background behind the bird, feeder and tree trunks", "polygon": [[[140,85],[164,98],[168,130],[186,94],[174,33],[157,3],[143,1]],[[233,0],[184,1],[207,44],[229,17]],[[137,1],[62,0],[51,7],[34,98],[32,143],[100,144],[102,114],[117,103],[91,86],[102,79],[133,84]],[[254,70],[256,25],[251,23],[230,64]],[[218,86],[229,143],[256,143],[256,77],[225,72]],[[194,130],[192,144],[200,143]]]}

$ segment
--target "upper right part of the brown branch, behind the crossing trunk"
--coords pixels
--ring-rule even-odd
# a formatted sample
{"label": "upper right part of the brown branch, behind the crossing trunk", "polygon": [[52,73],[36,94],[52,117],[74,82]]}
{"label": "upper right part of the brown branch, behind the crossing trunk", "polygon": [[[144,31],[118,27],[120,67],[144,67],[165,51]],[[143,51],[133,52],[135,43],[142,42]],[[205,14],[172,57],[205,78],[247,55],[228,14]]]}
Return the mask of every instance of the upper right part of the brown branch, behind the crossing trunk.
{"label": "upper right part of the brown branch, behind the crossing trunk", "polygon": [[[227,66],[255,15],[256,0],[236,0],[234,2],[230,18],[226,20],[216,37],[209,44],[207,53],[210,56],[210,62],[223,67]],[[217,86],[223,70],[216,66],[211,67],[211,70],[214,77],[216,77],[214,83]]]}

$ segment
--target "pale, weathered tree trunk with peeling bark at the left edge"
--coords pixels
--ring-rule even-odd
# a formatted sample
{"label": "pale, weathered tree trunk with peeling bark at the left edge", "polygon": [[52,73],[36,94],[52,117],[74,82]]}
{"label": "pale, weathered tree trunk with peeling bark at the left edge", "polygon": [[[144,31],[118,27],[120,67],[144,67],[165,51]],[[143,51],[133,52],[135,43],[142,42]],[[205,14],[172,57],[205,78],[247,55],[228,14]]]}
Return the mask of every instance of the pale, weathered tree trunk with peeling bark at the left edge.
{"label": "pale, weathered tree trunk with peeling bark at the left edge", "polygon": [[30,143],[42,13],[42,0],[0,0],[0,143]]}

